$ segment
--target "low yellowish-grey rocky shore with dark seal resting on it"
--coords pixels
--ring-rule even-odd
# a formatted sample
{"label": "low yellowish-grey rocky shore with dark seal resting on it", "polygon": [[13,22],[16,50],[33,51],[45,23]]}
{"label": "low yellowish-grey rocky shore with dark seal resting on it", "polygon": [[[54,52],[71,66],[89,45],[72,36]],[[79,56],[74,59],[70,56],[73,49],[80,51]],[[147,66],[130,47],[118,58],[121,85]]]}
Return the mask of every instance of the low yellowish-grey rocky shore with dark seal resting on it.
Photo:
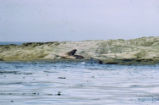
{"label": "low yellowish-grey rocky shore with dark seal resting on it", "polygon": [[159,37],[131,40],[30,42],[0,45],[0,61],[86,61],[101,64],[159,63]]}

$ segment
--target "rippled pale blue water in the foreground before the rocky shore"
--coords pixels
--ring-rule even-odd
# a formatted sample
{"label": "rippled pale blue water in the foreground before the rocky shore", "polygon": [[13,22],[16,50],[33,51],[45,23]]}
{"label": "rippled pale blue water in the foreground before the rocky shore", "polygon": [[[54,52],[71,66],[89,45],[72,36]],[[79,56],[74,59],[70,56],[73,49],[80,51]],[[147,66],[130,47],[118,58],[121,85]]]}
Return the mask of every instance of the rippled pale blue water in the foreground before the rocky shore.
{"label": "rippled pale blue water in the foreground before the rocky shore", "polygon": [[159,105],[159,65],[0,62],[0,105]]}

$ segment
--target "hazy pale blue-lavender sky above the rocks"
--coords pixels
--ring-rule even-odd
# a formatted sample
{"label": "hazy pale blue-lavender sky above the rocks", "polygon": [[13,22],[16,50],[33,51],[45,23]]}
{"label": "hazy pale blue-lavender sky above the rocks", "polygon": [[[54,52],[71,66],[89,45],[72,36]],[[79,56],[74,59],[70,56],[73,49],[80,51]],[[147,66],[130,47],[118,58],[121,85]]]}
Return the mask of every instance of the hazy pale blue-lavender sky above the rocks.
{"label": "hazy pale blue-lavender sky above the rocks", "polygon": [[0,0],[0,41],[159,36],[159,0]]}

